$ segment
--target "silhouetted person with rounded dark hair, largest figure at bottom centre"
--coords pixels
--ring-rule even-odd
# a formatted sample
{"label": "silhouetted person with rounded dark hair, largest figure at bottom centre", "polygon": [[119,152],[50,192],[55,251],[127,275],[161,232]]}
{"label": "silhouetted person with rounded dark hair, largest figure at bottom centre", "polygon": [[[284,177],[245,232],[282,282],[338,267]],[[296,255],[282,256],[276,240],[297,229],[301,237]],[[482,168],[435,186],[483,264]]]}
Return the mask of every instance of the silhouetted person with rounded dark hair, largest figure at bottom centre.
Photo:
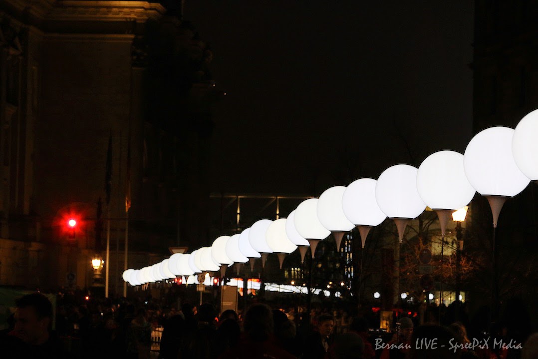
{"label": "silhouetted person with rounded dark hair, largest figure at bottom centre", "polygon": [[[293,355],[275,345],[274,322],[271,308],[265,304],[254,304],[245,314],[245,333],[235,348],[223,359],[293,359]],[[306,358],[306,357],[305,357]]]}

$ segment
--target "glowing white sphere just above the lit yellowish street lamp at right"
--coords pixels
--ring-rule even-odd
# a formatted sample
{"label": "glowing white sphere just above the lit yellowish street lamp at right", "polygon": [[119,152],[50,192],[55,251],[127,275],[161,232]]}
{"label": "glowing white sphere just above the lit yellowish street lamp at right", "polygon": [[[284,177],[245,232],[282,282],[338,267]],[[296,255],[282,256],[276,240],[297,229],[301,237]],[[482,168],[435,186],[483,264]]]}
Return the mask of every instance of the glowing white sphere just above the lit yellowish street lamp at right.
{"label": "glowing white sphere just above the lit yellowish street lamp at right", "polygon": [[439,151],[430,154],[419,166],[416,188],[420,198],[432,209],[459,209],[471,202],[475,188],[463,168],[463,154]]}

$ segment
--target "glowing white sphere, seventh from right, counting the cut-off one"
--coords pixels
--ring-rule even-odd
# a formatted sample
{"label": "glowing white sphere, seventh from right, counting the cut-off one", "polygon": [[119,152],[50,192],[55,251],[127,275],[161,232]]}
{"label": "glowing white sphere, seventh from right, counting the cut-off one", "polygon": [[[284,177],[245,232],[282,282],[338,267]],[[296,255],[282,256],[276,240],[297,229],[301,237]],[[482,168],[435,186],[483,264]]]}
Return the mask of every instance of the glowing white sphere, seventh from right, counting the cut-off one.
{"label": "glowing white sphere, seventh from right, counting the cut-off one", "polygon": [[307,240],[324,240],[331,234],[317,217],[317,202],[317,198],[309,198],[299,203],[295,209],[295,229]]}

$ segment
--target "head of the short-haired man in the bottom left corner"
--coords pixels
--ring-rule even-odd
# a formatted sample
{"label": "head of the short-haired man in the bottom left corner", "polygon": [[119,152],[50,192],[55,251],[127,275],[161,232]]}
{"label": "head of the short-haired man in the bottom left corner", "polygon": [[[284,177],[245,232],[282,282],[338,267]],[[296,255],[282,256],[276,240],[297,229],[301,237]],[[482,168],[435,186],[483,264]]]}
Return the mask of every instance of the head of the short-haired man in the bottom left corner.
{"label": "head of the short-haired man in the bottom left corner", "polygon": [[15,334],[29,344],[43,344],[48,340],[52,322],[52,304],[40,293],[24,295],[17,299]]}

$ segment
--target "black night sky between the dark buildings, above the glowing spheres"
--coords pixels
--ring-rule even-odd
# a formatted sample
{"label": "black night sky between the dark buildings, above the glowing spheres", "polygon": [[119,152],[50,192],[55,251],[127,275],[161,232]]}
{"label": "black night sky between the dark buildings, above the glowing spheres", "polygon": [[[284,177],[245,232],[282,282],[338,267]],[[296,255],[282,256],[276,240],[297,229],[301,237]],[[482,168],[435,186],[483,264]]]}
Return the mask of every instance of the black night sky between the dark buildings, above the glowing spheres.
{"label": "black night sky between the dark buildings, above the glowing spheres", "polygon": [[185,19],[227,94],[212,191],[319,195],[472,137],[470,1],[187,1]]}

